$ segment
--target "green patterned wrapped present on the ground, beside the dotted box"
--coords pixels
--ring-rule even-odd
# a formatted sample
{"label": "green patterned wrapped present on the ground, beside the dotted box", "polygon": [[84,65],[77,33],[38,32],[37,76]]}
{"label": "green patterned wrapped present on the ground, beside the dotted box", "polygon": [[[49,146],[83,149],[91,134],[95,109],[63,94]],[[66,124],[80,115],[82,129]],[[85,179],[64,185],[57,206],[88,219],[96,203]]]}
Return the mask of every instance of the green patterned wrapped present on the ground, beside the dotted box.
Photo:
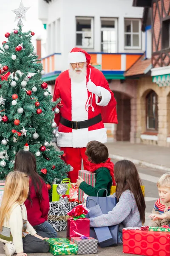
{"label": "green patterned wrapped present on the ground, beside the dotted box", "polygon": [[65,238],[50,238],[46,240],[49,243],[49,252],[53,255],[76,255],[78,245]]}

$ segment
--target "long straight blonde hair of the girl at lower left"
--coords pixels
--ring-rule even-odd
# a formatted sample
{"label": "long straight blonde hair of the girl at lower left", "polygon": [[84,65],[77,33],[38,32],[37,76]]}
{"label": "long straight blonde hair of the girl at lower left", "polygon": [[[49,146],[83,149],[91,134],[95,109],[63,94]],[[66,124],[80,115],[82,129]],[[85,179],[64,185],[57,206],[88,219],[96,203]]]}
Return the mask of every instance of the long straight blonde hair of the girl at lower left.
{"label": "long straight blonde hair of the girl at lower left", "polygon": [[23,172],[10,172],[6,177],[3,199],[0,207],[0,230],[4,219],[8,221],[15,203],[22,204],[28,197],[29,178]]}

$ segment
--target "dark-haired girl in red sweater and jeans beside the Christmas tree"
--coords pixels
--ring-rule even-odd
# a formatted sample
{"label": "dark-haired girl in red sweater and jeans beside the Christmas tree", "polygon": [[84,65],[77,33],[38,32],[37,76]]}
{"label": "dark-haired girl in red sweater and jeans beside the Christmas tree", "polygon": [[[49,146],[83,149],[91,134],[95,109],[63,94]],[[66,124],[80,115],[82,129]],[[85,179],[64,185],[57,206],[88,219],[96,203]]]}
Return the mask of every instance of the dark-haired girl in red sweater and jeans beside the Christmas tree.
{"label": "dark-haired girl in red sweater and jeans beside the Christmas tree", "polygon": [[24,172],[30,177],[28,199],[25,201],[29,223],[42,236],[57,237],[56,231],[47,222],[48,189],[45,181],[37,174],[34,155],[29,151],[19,151],[15,157],[14,170]]}

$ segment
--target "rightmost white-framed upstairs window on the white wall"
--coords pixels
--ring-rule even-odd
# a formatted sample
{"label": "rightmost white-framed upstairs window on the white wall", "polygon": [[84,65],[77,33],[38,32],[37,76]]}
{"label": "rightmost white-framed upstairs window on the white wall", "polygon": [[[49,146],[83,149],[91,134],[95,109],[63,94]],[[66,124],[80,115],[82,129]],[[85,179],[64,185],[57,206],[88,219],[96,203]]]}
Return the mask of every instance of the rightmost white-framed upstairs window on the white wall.
{"label": "rightmost white-framed upstairs window on the white wall", "polygon": [[125,19],[125,49],[141,49],[141,21]]}

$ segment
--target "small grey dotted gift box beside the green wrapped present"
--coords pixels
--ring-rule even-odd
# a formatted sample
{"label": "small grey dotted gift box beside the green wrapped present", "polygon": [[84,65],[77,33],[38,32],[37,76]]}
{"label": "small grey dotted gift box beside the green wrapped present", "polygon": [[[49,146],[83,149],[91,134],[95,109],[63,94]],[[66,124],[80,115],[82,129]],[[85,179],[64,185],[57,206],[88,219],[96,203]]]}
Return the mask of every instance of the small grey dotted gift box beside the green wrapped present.
{"label": "small grey dotted gift box beside the green wrapped present", "polygon": [[97,253],[98,241],[93,237],[87,237],[87,236],[72,237],[71,241],[78,245],[77,254]]}

